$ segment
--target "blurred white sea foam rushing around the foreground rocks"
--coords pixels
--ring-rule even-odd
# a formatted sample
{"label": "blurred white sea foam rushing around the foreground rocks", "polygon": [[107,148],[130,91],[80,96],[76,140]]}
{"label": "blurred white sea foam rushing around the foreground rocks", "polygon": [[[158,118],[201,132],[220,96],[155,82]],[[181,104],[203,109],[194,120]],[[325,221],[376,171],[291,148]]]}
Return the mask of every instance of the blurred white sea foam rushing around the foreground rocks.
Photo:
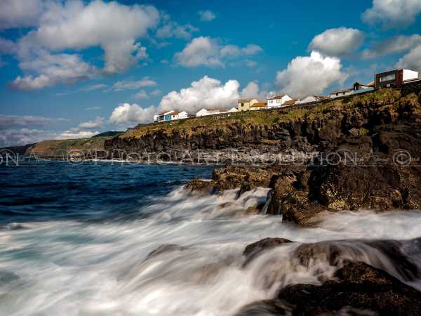
{"label": "blurred white sea foam rushing around the foreground rocks", "polygon": [[[179,188],[140,209],[149,215],[142,219],[24,223],[20,230],[0,230],[0,315],[234,315],[246,303],[272,298],[280,286],[318,284],[335,271],[326,262],[295,263],[299,243],[268,251],[243,268],[241,254],[250,242],[421,235],[418,211],[343,212],[318,228],[297,228],[281,223],[280,216],[241,215],[264,201],[266,189],[240,199],[236,193],[194,196]],[[161,244],[186,248],[145,261]],[[362,249],[356,256],[398,274],[380,252],[356,247]]]}

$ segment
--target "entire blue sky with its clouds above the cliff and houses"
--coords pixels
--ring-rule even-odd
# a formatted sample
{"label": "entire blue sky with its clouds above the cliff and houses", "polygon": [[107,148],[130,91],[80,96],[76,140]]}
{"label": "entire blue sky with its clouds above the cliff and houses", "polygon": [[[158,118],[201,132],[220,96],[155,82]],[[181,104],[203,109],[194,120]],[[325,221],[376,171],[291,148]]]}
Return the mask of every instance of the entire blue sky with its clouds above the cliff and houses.
{"label": "entire blue sky with its clouds above the cliff and houses", "polygon": [[420,11],[421,0],[4,0],[0,146],[421,70]]}

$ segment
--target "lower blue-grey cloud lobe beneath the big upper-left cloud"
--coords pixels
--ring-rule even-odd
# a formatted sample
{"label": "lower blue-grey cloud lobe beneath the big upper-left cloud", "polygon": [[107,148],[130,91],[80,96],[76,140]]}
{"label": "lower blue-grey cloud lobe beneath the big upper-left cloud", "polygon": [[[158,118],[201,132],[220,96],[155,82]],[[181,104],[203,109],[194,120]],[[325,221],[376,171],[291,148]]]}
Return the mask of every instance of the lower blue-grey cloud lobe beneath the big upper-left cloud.
{"label": "lower blue-grey cloud lobe beneath the big upper-left cloud", "polygon": [[83,62],[79,55],[51,55],[48,51],[39,51],[36,58],[23,60],[20,62],[20,68],[37,76],[18,76],[10,84],[18,90],[39,90],[56,84],[74,84],[97,73],[96,68]]}

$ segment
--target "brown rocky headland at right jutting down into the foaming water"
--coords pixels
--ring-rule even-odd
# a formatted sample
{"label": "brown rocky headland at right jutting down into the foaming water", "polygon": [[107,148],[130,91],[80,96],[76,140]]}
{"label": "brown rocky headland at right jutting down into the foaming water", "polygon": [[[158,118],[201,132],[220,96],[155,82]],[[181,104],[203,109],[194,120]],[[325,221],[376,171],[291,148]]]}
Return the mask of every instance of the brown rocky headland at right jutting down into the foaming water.
{"label": "brown rocky headland at right jutting down into the foaming water", "polygon": [[[354,98],[346,110],[326,109],[320,127],[301,121],[299,137],[319,151],[302,164],[226,166],[215,170],[210,183],[196,180],[188,187],[240,187],[239,194],[270,187],[262,211],[299,225],[314,225],[326,212],[341,210],[421,209],[420,96],[392,97],[382,103]],[[298,137],[295,124],[289,126],[291,141]]]}

